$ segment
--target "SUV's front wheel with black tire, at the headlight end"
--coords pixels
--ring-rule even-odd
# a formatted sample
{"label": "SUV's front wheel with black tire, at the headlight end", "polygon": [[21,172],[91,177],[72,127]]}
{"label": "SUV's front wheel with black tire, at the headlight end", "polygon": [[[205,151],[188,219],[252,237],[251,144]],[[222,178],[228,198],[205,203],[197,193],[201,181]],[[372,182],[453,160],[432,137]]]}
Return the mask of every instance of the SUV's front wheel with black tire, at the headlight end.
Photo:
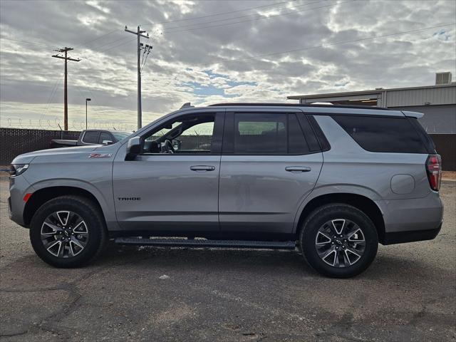
{"label": "SUV's front wheel with black tire, at the headlight end", "polygon": [[31,245],[38,257],[51,266],[86,265],[103,251],[107,239],[103,214],[85,197],[51,199],[31,219]]}

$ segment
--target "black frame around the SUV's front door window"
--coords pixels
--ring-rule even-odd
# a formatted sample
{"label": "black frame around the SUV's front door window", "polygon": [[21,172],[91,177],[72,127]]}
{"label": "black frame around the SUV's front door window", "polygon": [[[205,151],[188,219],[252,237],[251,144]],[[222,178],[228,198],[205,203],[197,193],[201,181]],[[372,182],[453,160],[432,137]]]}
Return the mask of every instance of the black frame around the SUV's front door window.
{"label": "black frame around the SUV's front door window", "polygon": [[174,123],[177,120],[179,120],[180,118],[188,118],[188,117],[194,116],[194,115],[195,116],[196,115],[214,115],[214,130],[212,131],[212,142],[211,142],[210,152],[140,153],[139,155],[145,155],[145,156],[147,156],[147,155],[154,155],[154,156],[155,155],[177,155],[177,156],[179,156],[179,155],[220,155],[222,153],[222,140],[223,140],[222,132],[223,132],[223,128],[224,128],[225,113],[217,112],[217,111],[192,112],[192,113],[185,113],[182,115],[177,115],[173,118],[170,118],[169,120],[166,120],[165,122],[161,123],[158,126],[150,128],[150,130],[147,130],[140,135],[141,150],[144,146],[145,136],[149,135],[149,133],[151,131],[161,130],[163,127],[165,127],[165,125],[167,125],[167,123],[170,123],[170,122]]}

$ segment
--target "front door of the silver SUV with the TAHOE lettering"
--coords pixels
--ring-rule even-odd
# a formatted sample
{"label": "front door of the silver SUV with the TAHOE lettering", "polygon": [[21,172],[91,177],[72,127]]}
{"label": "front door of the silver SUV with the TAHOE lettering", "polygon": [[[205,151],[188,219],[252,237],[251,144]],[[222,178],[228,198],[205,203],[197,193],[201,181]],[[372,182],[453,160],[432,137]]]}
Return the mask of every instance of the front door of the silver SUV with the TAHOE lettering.
{"label": "front door of the silver SUV with the TAHOE lettering", "polygon": [[123,229],[164,235],[219,231],[223,116],[180,115],[144,133],[135,160],[118,153],[113,195]]}

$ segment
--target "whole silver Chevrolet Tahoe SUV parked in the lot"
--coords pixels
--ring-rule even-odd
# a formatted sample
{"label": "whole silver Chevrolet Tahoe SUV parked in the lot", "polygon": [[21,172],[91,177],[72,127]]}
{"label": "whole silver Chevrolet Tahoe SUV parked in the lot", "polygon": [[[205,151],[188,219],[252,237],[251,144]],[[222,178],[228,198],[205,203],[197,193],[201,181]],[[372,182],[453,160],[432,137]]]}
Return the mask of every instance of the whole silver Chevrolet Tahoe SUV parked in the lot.
{"label": "whole silver Chevrolet Tahoe SUV parked in the lot", "polygon": [[58,267],[86,264],[113,239],[298,247],[321,274],[354,276],[378,242],[440,231],[441,160],[422,116],[341,105],[181,108],[113,145],[19,155],[11,219]]}

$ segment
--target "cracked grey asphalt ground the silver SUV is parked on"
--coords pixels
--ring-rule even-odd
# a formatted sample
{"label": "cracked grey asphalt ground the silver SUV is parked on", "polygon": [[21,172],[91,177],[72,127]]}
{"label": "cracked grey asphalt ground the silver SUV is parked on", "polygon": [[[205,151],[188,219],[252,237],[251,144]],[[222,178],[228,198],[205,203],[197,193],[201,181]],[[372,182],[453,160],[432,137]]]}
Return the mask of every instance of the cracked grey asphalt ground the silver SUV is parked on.
{"label": "cracked grey asphalt ground the silver SUV is parked on", "polygon": [[456,182],[433,241],[380,246],[354,279],[297,252],[111,245],[82,269],[44,264],[9,221],[1,177],[1,341],[455,341]]}

